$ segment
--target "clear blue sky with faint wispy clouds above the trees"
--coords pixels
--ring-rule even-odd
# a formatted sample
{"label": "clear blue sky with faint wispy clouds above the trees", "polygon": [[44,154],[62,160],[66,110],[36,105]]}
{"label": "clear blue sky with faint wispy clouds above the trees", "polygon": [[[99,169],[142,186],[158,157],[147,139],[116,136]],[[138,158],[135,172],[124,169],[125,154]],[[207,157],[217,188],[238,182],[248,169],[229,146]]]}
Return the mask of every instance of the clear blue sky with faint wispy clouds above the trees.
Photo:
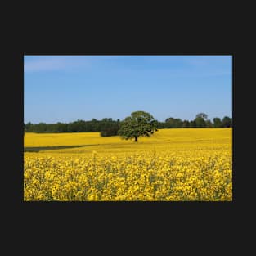
{"label": "clear blue sky with faint wispy clouds above the trees", "polygon": [[25,123],[232,117],[231,56],[24,56]]}

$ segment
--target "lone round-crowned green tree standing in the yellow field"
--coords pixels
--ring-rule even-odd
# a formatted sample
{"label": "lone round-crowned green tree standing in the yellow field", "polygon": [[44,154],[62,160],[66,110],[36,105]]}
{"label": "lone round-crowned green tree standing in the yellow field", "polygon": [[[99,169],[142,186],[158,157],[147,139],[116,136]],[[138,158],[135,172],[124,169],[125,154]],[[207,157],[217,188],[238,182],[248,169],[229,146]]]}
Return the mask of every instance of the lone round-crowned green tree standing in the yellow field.
{"label": "lone round-crowned green tree standing in the yellow field", "polygon": [[125,140],[134,138],[137,142],[138,137],[150,137],[157,131],[156,125],[157,121],[152,115],[144,111],[135,111],[120,122],[118,134]]}

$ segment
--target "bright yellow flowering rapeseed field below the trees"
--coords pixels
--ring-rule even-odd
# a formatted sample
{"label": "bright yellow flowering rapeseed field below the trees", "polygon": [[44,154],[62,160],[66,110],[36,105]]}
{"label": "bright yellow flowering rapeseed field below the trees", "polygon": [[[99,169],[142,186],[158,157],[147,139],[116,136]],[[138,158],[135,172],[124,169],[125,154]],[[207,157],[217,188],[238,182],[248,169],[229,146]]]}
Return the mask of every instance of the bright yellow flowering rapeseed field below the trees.
{"label": "bright yellow flowering rapeseed field below the trees", "polygon": [[24,200],[231,201],[231,136],[231,128],[161,129],[136,143],[26,133]]}

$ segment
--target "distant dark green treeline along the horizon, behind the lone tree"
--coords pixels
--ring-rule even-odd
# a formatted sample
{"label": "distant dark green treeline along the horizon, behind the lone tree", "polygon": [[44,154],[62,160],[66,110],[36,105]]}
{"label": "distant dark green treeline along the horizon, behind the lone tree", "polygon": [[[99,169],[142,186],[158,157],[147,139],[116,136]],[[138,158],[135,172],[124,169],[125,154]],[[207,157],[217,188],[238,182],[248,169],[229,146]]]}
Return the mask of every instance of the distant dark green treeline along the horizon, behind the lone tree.
{"label": "distant dark green treeline along the horizon, behind the lone tree", "polygon": [[[92,119],[91,121],[77,120],[71,123],[56,124],[24,124],[25,132],[101,132],[102,137],[117,135],[120,120],[105,118],[101,120]],[[175,118],[165,119],[165,122],[156,120],[157,128],[230,128],[232,119],[228,116],[222,119],[215,117],[213,122],[207,119],[207,115],[200,113],[194,120],[182,120]]]}

